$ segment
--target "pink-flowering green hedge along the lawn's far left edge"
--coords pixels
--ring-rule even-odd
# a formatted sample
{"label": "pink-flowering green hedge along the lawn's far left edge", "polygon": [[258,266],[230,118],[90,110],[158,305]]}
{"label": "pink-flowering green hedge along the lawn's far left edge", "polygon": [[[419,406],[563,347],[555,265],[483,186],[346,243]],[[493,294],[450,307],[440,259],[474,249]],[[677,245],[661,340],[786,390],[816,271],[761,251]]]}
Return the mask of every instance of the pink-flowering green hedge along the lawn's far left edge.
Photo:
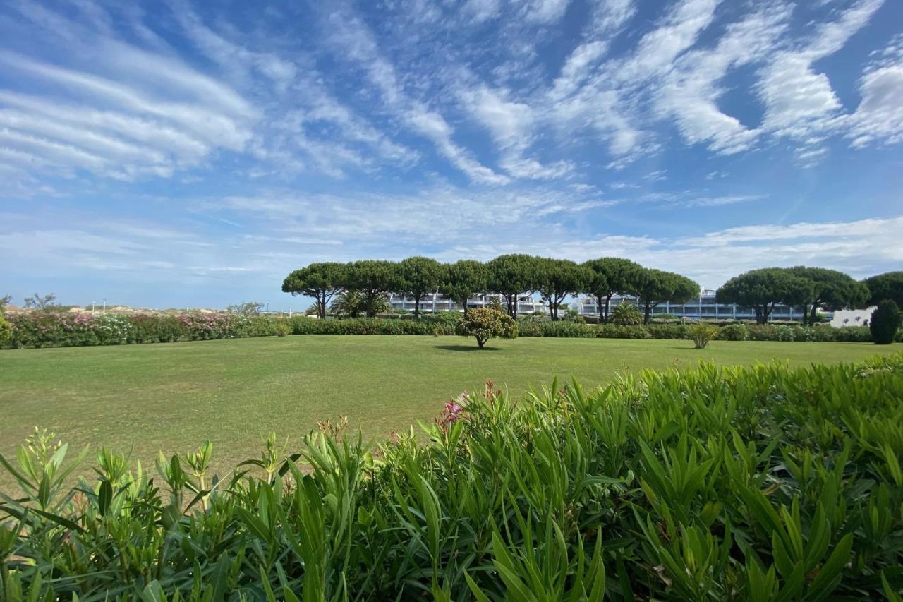
{"label": "pink-flowering green hedge along the lawn's far left edge", "polygon": [[130,343],[173,343],[276,334],[280,318],[268,315],[89,315],[29,312],[7,315],[12,326],[2,348],[76,347]]}

